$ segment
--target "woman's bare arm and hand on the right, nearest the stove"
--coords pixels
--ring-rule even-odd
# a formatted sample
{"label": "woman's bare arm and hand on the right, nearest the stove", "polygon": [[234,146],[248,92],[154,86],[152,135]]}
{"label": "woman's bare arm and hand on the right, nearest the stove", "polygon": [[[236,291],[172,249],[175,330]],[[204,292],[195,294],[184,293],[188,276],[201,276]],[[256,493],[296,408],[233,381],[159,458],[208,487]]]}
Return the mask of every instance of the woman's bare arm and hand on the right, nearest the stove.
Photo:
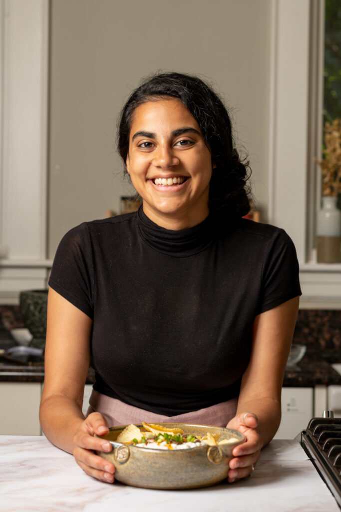
{"label": "woman's bare arm and hand on the right, nearest the stove", "polygon": [[261,448],[278,430],[281,389],[298,308],[299,297],[295,297],[255,319],[251,358],[242,377],[237,413],[227,425],[246,436],[246,442],[233,451],[230,482],[252,471]]}

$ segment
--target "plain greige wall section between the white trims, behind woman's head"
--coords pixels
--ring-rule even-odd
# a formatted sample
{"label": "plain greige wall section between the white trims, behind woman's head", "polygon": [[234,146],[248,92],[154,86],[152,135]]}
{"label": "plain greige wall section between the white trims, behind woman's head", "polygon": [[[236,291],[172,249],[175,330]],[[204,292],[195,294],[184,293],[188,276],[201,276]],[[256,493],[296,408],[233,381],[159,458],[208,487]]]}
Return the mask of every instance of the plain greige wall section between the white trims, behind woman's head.
{"label": "plain greige wall section between the white trims, behind woman's head", "polygon": [[262,220],[268,204],[271,0],[52,0],[48,258],[84,220],[119,211],[131,188],[116,118],[141,77],[199,74],[230,107]]}

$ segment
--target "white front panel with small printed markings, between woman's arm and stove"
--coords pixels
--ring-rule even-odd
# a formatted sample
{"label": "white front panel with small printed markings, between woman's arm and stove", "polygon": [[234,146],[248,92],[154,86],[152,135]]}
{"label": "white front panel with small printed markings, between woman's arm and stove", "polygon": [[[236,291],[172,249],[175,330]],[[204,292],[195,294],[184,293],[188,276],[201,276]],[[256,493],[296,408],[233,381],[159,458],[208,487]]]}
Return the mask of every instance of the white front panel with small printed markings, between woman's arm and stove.
{"label": "white front panel with small printed markings, between woman's arm and stove", "polygon": [[293,439],[313,417],[313,388],[282,388],[282,420],[274,439]]}

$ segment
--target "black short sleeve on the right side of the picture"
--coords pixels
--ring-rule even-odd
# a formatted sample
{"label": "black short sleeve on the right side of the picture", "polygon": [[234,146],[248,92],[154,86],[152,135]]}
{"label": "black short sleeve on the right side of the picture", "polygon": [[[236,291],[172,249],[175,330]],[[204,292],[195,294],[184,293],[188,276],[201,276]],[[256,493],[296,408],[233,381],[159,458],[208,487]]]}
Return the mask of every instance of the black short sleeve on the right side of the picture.
{"label": "black short sleeve on the right side of the picture", "polygon": [[295,246],[287,233],[283,229],[278,229],[269,241],[263,262],[258,313],[275,308],[299,295],[302,295],[302,292]]}

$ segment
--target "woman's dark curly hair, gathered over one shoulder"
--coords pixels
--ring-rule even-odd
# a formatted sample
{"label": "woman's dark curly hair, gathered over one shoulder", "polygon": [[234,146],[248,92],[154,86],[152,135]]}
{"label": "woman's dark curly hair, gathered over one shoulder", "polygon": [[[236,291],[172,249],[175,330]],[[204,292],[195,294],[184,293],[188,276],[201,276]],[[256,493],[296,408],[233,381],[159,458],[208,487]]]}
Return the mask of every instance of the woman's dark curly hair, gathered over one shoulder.
{"label": "woman's dark curly hair, gathered over one shoulder", "polygon": [[[251,171],[248,161],[241,161],[236,148],[230,116],[219,96],[203,80],[183,73],[158,73],[144,79],[125,103],[118,124],[118,152],[124,166],[129,151],[129,134],[134,110],[155,97],[178,98],[200,126],[209,147],[212,171],[209,193],[210,211],[242,217],[249,211]],[[125,166],[125,171],[126,171]]]}

